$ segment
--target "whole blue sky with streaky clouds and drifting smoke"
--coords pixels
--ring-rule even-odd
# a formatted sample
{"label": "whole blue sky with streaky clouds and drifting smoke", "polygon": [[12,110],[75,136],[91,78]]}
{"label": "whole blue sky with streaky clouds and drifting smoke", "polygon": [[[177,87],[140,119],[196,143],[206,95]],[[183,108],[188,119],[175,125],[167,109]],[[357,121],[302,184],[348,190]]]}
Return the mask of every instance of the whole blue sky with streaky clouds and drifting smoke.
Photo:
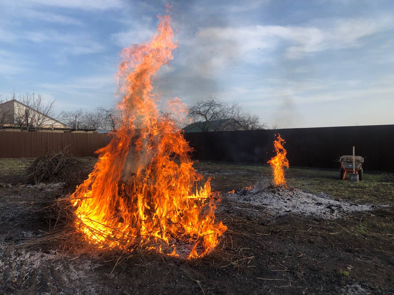
{"label": "whole blue sky with streaky clouds and drifting smoke", "polygon": [[[2,0],[0,94],[58,110],[116,101],[119,51],[148,41],[167,1]],[[279,127],[394,124],[392,1],[173,1],[163,98],[238,101]]]}

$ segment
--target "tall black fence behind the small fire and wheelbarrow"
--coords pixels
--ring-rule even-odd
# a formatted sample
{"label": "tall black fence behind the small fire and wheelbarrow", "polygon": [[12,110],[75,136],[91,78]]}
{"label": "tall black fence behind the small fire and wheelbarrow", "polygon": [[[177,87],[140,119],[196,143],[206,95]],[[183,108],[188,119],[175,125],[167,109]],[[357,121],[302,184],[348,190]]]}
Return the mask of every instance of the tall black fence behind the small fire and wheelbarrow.
{"label": "tall black fence behind the small fire and wheelbarrow", "polygon": [[277,130],[185,133],[195,149],[193,158],[227,162],[266,163],[273,152],[274,135],[286,141],[291,166],[339,168],[336,160],[365,157],[364,169],[394,171],[394,125],[294,128]]}

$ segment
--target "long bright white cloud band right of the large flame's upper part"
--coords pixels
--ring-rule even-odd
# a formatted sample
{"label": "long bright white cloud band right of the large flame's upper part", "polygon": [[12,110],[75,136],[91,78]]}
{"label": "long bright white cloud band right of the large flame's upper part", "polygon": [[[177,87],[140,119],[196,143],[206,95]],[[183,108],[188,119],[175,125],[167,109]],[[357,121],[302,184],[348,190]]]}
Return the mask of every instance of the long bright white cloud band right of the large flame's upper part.
{"label": "long bright white cloud band right of the large flame's upper part", "polygon": [[[253,61],[259,61],[266,50],[283,44],[287,48],[286,57],[294,59],[326,50],[360,47],[364,45],[363,37],[392,27],[390,17],[326,19],[315,26],[210,27],[186,42],[204,53],[228,52],[232,58],[241,54],[240,58],[252,57]],[[219,64],[227,62],[220,59]]]}

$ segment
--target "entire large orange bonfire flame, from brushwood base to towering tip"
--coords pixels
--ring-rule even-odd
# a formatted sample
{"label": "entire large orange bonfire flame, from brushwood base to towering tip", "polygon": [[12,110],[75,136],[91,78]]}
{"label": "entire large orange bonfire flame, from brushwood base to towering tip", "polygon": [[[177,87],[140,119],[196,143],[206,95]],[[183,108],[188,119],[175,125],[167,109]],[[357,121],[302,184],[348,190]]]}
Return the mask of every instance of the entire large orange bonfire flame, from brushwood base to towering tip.
{"label": "entire large orange bonfire flame, from brushwood base to towering tip", "polygon": [[[210,179],[193,168],[192,150],[169,116],[160,116],[152,77],[173,59],[169,15],[150,42],[132,45],[117,73],[123,99],[121,127],[84,183],[77,186],[75,226],[89,243],[133,251],[152,249],[170,256],[202,257],[227,229],[215,223]],[[169,101],[172,109],[179,100]],[[178,109],[180,112],[182,106]],[[194,192],[193,192],[194,190]]]}

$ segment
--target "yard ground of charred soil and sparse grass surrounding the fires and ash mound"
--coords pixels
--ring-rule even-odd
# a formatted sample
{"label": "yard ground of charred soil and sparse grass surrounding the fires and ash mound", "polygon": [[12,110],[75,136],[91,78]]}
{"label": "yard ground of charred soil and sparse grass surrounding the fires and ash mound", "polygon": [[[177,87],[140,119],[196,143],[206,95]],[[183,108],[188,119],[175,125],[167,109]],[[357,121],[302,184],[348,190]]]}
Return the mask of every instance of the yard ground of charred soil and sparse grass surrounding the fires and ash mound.
{"label": "yard ground of charred soil and sparse grass surrounding the fires and ash mound", "polygon": [[[0,159],[0,294],[394,294],[391,206],[337,219],[275,216],[264,206],[226,197],[232,189],[268,185],[269,167],[200,162],[196,168],[214,177],[212,187],[223,196],[217,219],[228,230],[215,251],[196,261],[154,254],[122,258],[114,269],[108,254],[84,246],[21,247],[48,230],[31,202],[61,191],[11,185],[24,163]],[[393,205],[387,175],[366,170],[361,183],[350,183],[338,180],[338,170],[290,168],[286,179],[304,192]]]}

